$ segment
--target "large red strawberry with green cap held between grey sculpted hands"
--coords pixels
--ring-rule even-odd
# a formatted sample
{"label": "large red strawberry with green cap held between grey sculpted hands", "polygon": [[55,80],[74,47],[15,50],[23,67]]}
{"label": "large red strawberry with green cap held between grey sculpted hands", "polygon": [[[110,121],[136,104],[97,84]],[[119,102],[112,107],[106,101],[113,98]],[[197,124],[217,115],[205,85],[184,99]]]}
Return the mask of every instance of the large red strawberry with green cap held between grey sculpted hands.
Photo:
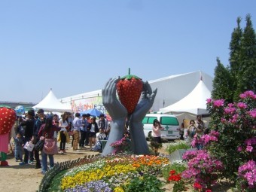
{"label": "large red strawberry with green cap held between grey sculpted hands", "polygon": [[139,102],[143,88],[143,82],[141,78],[136,75],[126,75],[117,82],[117,93],[120,102],[127,109],[128,114],[132,114]]}

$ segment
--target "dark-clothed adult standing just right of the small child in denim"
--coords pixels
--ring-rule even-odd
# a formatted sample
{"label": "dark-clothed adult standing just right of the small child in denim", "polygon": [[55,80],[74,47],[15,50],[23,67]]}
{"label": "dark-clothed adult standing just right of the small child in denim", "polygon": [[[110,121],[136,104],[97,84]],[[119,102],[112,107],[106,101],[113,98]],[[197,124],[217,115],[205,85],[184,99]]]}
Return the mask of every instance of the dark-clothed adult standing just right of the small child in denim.
{"label": "dark-clothed adult standing just right of the small child in denim", "polygon": [[[26,120],[23,120],[20,123],[20,126],[26,126],[25,132],[24,132],[24,144],[26,142],[32,142],[31,139],[33,137],[33,130],[34,130],[34,124],[35,124],[35,111],[30,109],[27,113]],[[29,157],[32,157],[33,152],[26,150],[24,148],[24,158],[23,162],[20,163],[20,166],[27,165],[29,163]]]}

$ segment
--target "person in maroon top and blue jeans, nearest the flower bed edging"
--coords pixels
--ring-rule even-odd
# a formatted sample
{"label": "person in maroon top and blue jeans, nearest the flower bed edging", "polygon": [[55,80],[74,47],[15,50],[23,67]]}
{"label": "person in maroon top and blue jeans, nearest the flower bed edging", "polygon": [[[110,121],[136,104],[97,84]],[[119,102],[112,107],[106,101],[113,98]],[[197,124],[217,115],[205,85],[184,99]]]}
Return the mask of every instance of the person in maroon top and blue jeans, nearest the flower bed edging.
{"label": "person in maroon top and blue jeans, nearest the flower bed edging", "polygon": [[[38,132],[38,137],[40,139],[54,139],[54,132],[58,132],[60,127],[53,125],[53,116],[51,114],[47,115],[45,123],[41,125]],[[41,173],[44,175],[47,172],[47,156],[50,161],[50,168],[54,166],[53,154],[46,154],[44,150],[41,151]]]}

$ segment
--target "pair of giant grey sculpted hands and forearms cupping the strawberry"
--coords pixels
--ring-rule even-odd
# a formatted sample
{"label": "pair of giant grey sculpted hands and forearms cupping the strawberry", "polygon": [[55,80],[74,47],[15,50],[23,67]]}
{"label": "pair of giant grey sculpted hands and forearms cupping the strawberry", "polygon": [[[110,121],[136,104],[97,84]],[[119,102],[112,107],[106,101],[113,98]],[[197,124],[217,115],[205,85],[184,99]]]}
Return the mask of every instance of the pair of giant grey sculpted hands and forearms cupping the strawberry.
{"label": "pair of giant grey sculpted hands and forearms cupping the strawberry", "polygon": [[120,77],[111,78],[102,89],[102,102],[108,114],[112,118],[111,131],[108,136],[108,142],[105,145],[102,155],[111,154],[114,150],[110,145],[112,142],[122,139],[126,118],[129,120],[130,136],[134,154],[148,154],[148,144],[145,139],[142,120],[145,114],[150,110],[157,94],[157,89],[152,92],[148,81],[143,82],[142,96],[137,104],[133,114],[128,116],[126,108],[117,99],[117,82]]}

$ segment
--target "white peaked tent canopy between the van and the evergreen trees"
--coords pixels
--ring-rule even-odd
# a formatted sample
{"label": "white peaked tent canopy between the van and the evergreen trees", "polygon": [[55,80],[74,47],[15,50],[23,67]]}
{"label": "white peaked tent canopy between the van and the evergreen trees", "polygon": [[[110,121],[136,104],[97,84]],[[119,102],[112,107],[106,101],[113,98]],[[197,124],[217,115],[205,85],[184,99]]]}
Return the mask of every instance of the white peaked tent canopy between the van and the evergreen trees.
{"label": "white peaked tent canopy between the van and the evergreen trees", "polygon": [[211,91],[202,80],[187,96],[166,108],[160,108],[163,113],[187,112],[191,114],[207,114],[206,99],[211,98]]}

